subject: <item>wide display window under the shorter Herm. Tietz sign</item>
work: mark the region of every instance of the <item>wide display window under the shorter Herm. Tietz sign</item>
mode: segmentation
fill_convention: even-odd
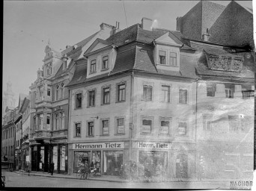
[[[163,171],[167,169],[167,151],[139,151],[138,163],[139,176],[155,176],[158,164]]]

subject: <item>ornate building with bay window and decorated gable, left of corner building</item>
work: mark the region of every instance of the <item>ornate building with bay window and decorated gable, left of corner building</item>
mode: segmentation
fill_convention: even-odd
[[[98,37],[104,40],[115,31],[105,23],[100,31],[62,52],[52,46],[45,48],[43,67],[31,84],[31,170],[67,172],[67,131],[69,99],[66,85],[73,76],[75,60]]]

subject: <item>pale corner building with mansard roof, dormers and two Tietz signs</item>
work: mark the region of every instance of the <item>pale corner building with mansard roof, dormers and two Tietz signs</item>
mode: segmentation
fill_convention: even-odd
[[[138,175],[195,174],[195,59],[178,31],[143,18],[97,39],[77,63],[70,89],[69,168],[88,160],[103,175],[138,163]],[[87,64],[86,64],[87,62]],[[149,167],[151,166],[151,167]]]

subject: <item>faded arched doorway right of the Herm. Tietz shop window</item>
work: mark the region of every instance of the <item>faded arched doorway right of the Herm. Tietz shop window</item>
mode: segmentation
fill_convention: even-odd
[[[177,155],[176,178],[188,178],[188,155],[186,154]]]

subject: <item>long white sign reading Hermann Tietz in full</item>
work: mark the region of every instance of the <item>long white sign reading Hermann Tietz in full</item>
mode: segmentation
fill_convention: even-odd
[[[108,143],[75,143],[73,149],[88,149],[88,148],[124,148],[124,142],[108,142]]]

